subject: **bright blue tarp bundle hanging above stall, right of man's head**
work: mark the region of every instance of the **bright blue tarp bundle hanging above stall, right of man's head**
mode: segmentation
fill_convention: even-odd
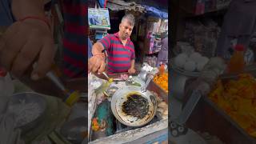
[[[146,9],[146,14],[148,16],[158,17],[158,18],[162,18],[162,19],[168,19],[168,13],[166,13],[162,10],[158,10],[154,6],[144,6],[144,7]]]

